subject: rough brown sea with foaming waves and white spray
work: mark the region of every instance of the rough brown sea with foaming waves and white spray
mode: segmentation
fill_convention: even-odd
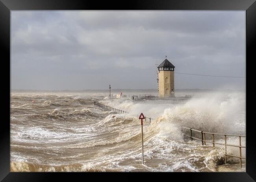
[[[180,126],[245,134],[240,97],[139,102],[83,93],[11,93],[11,171],[217,171],[224,148],[185,141]],[[94,100],[130,114],[103,111]],[[144,165],[140,112],[153,118],[143,125]],[[237,144],[235,138],[228,142]],[[228,162],[236,171],[237,160]]]

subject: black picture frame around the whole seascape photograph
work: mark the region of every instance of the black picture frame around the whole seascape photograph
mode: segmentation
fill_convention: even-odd
[[[10,172],[10,13],[12,10],[243,10],[246,11],[246,172],[234,173],[165,173],[165,177],[174,177],[189,181],[256,181],[256,142],[253,127],[255,116],[253,107],[256,103],[256,86],[254,79],[254,61],[256,51],[256,2],[255,0],[145,0],[102,1],[96,0],[0,0],[0,51],[2,71],[2,123],[0,127],[0,180],[2,181],[49,181],[55,178],[74,180],[78,177],[98,178],[98,173],[17,173]],[[8,79],[9,77],[9,79]],[[10,105],[9,105],[10,106]],[[134,173],[119,173],[127,179],[134,179]],[[131,174],[133,176],[131,176]],[[136,173],[138,174],[138,173]],[[148,177],[160,173],[147,173]],[[163,173],[161,173],[162,175]],[[101,173],[100,176],[115,176],[116,173]],[[110,180],[122,180],[115,177]],[[158,178],[165,180],[164,178]]]

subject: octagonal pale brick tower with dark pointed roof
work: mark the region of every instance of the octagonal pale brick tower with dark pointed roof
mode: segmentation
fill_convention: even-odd
[[[158,92],[160,97],[174,94],[174,68],[172,63],[165,59],[158,66]]]

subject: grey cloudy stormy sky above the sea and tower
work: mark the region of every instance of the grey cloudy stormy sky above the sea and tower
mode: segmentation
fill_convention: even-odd
[[[11,11],[11,89],[245,89],[245,11]]]

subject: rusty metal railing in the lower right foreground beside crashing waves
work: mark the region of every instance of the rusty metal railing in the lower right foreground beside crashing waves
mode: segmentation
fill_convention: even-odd
[[[192,128],[187,128],[187,127],[183,127],[183,126],[182,126],[182,127],[181,127],[181,131],[182,131],[182,132],[183,132],[183,129],[188,129],[188,130],[190,130],[190,135],[187,135],[187,134],[184,133],[185,136],[188,136],[188,137],[190,137],[191,139],[195,139],[195,140],[200,140],[200,141],[202,141],[202,145],[206,145],[206,142],[207,142],[207,143],[212,143],[212,144],[213,144],[212,147],[215,147],[215,144],[217,144],[217,145],[224,145],[224,146],[225,146],[225,164],[226,164],[226,158],[227,158],[227,156],[236,157],[236,158],[239,158],[240,168],[242,167],[242,159],[246,159],[246,158],[242,156],[241,148],[246,148],[246,147],[241,145],[241,137],[246,137],[246,136],[240,135],[240,134],[239,134],[239,135],[236,135],[236,134],[221,134],[221,133],[204,132],[204,131],[199,131],[199,130],[195,130],[195,129],[192,129]],[[196,138],[195,136],[192,136],[192,131],[200,132],[202,138]],[[206,141],[205,134],[211,134],[211,135],[212,135],[212,141]],[[225,143],[218,143],[218,142],[215,142],[215,141],[214,141],[214,136],[215,136],[215,135],[222,135],[222,136],[224,136],[224,141],[225,141]],[[227,136],[238,136],[238,137],[239,137],[239,145],[227,144]],[[239,147],[239,156],[227,154],[227,148],[226,148],[226,146],[230,146],[230,147]]]

